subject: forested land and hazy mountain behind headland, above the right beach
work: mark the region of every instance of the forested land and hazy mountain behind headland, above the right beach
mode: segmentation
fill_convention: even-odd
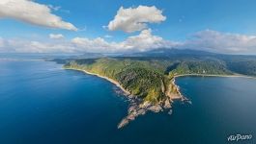
[[[180,74],[231,74],[256,76],[256,56],[223,55],[204,51],[157,49],[144,53],[125,55],[136,59],[171,60],[170,69]],[[171,71],[169,70],[169,71]]]

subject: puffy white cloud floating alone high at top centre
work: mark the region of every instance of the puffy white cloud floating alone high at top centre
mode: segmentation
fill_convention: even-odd
[[[107,28],[110,31],[121,30],[127,33],[147,29],[147,23],[160,23],[166,19],[162,11],[155,6],[139,6],[125,9],[121,7],[115,18],[109,22]]]

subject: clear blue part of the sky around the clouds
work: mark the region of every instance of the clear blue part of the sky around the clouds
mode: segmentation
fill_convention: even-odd
[[[184,42],[193,38],[198,32],[208,30],[211,30],[211,35],[214,33],[214,35],[224,36],[233,34],[256,36],[255,0],[36,0],[35,3],[47,7],[59,7],[58,10],[51,9],[51,13],[62,17],[63,21],[71,23],[79,30],[75,32],[52,29],[23,22],[12,16],[3,16],[0,19],[0,37],[2,39],[23,38],[48,42],[50,41],[49,34],[61,34],[65,36],[66,40],[74,37],[94,39],[112,36],[105,37],[104,40],[122,42],[129,36],[138,36],[141,33],[141,31],[132,33],[109,31],[103,28],[114,19],[122,6],[125,9],[155,6],[166,17],[166,20],[147,23],[147,29],[151,29],[152,35],[159,36],[164,40]],[[5,4],[2,5],[2,8],[5,8]]]

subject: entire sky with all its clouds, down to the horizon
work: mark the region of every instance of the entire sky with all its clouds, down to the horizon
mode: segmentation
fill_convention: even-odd
[[[256,55],[255,0],[1,0],[2,53]]]

